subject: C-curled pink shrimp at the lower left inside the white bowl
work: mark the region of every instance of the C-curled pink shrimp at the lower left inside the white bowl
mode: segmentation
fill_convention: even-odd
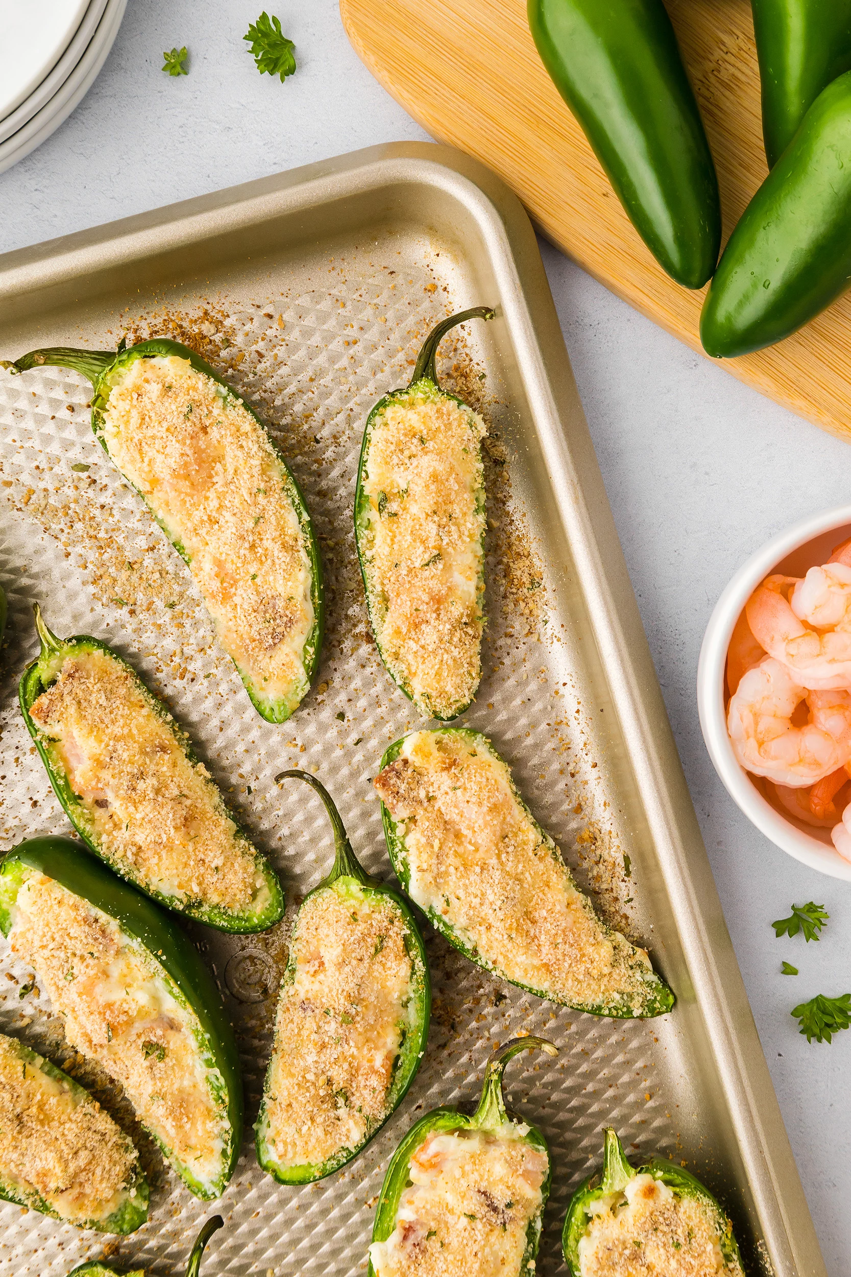
[[[795,727],[801,701],[810,722]],[[851,693],[808,691],[785,664],[767,656],[744,674],[730,699],[727,730],[746,771],[803,789],[851,759]]]

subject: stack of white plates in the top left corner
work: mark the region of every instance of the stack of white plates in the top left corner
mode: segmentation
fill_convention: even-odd
[[[128,0],[0,0],[0,172],[33,151],[94,83]]]

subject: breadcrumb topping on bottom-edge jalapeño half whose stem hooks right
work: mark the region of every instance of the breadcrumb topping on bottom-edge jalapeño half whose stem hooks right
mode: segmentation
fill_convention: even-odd
[[[429,1131],[411,1158],[396,1228],[370,1246],[376,1277],[521,1277],[547,1167],[512,1122],[504,1135]]]

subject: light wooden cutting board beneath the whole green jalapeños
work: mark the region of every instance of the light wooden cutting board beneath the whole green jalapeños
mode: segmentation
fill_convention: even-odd
[[[749,0],[666,0],[718,170],[725,239],[767,174]],[[656,264],[532,43],[526,0],[341,0],[370,72],[433,137],[495,170],[559,248],[702,351],[703,292]],[[850,227],[851,232],[851,227]],[[851,295],[723,366],[851,439]]]

